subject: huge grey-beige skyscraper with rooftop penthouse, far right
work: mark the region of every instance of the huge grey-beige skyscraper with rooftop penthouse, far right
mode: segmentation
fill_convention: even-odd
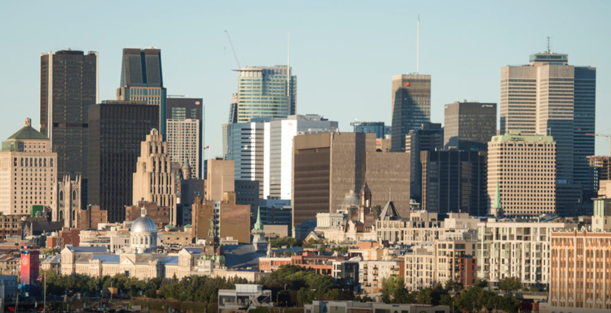
[[[500,132],[552,135],[557,179],[586,189],[586,157],[594,153],[596,68],[574,67],[568,55],[535,53],[528,65],[501,68]]]

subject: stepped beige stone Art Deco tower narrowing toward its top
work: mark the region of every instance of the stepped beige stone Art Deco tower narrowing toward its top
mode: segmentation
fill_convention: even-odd
[[[133,183],[133,201],[156,202],[158,206],[170,208],[170,224],[177,222],[175,176],[172,173],[167,142],[157,129],[152,129],[141,143]]]

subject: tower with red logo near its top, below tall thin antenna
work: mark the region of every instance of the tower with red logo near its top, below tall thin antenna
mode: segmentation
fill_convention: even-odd
[[[431,121],[431,76],[392,76],[392,151],[405,151],[405,135]]]

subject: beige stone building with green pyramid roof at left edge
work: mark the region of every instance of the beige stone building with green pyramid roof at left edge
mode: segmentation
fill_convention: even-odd
[[[51,210],[56,204],[57,153],[51,152],[51,141],[26,118],[25,126],[2,142],[0,212],[30,214],[33,206]]]

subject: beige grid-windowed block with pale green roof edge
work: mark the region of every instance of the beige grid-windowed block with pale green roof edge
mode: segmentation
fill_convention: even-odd
[[[551,136],[506,134],[488,143],[488,199],[505,215],[556,212],[556,143]]]

